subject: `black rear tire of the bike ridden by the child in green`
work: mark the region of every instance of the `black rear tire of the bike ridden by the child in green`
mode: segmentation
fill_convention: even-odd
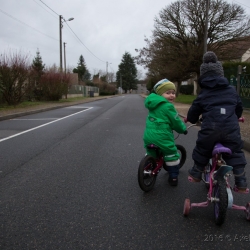
[[[149,181],[148,184],[145,183],[145,180],[147,178],[145,178],[144,168],[145,168],[145,165],[148,165],[148,164],[152,164],[151,170],[153,170],[156,167],[156,161],[154,157],[150,155],[146,155],[145,157],[143,157],[138,168],[138,183],[139,183],[140,188],[145,192],[149,192],[150,190],[152,190],[156,181],[156,175],[154,175],[154,176],[150,176],[151,180]]]

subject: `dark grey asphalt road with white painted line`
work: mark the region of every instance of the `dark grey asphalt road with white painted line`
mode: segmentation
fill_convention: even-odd
[[[182,215],[185,198],[206,200],[204,184],[187,180],[198,128],[176,141],[188,154],[179,185],[162,170],[151,192],[139,188],[143,101],[119,96],[0,122],[1,250],[249,248],[243,211],[228,210],[221,227],[211,204]],[[246,205],[250,195],[234,199]]]

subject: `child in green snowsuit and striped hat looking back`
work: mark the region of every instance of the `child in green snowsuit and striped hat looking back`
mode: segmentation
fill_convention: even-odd
[[[183,134],[186,125],[181,121],[172,102],[175,100],[175,85],[167,79],[159,81],[154,86],[155,93],[150,94],[145,100],[145,107],[149,114],[144,131],[144,147],[148,155],[154,151],[147,149],[148,144],[157,145],[164,154],[164,161],[168,167],[170,185],[177,186],[180,155],[175,146],[173,130]]]

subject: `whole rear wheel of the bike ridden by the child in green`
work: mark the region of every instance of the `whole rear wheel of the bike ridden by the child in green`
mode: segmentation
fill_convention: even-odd
[[[140,188],[148,192],[150,191],[156,181],[156,175],[152,175],[152,171],[156,167],[156,161],[154,157],[150,155],[146,155],[140,162],[139,168],[138,168],[138,183]]]

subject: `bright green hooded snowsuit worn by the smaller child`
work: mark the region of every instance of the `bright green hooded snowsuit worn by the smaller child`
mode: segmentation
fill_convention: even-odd
[[[157,145],[164,154],[164,161],[179,159],[175,146],[173,130],[177,133],[186,131],[174,105],[163,96],[150,94],[145,100],[145,107],[149,110],[144,131],[144,147],[148,144]],[[155,157],[154,150],[147,149],[147,154]]]

